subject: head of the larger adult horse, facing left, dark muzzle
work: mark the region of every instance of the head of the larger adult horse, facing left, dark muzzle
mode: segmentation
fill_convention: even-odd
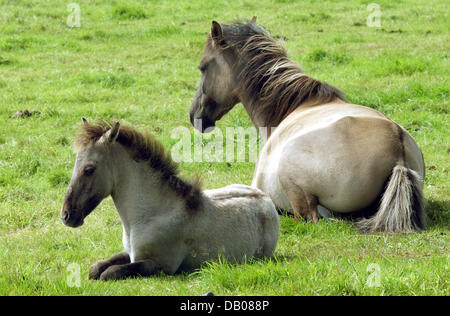
[[[212,22],[199,65],[202,77],[189,115],[191,123],[201,132],[211,131],[215,122],[240,101],[233,74],[236,51],[227,43],[224,31],[228,30],[216,21]]]

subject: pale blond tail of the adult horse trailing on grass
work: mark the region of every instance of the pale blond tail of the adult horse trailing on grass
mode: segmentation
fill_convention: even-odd
[[[409,233],[424,229],[422,189],[420,175],[398,164],[392,170],[378,212],[360,220],[357,226],[365,232]]]

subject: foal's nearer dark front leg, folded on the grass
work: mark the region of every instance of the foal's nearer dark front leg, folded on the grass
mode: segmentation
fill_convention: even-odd
[[[141,260],[133,263],[110,266],[100,276],[100,280],[122,280],[138,276],[149,276],[161,271],[161,267],[153,260]]]

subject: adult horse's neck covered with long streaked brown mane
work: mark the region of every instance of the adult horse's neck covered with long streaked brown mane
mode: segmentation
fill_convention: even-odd
[[[222,24],[222,29],[223,48],[233,47],[240,56],[235,65],[239,92],[257,104],[254,111],[266,117],[266,126],[278,126],[306,101],[315,105],[345,100],[337,88],[305,75],[284,47],[256,23]]]

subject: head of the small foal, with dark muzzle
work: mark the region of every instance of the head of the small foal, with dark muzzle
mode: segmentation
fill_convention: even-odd
[[[85,119],[83,121],[87,128],[92,126]],[[117,139],[119,129],[120,124],[116,123],[100,138],[78,149],[72,179],[61,209],[61,219],[65,225],[83,225],[84,218],[112,193],[113,167],[109,148]]]

